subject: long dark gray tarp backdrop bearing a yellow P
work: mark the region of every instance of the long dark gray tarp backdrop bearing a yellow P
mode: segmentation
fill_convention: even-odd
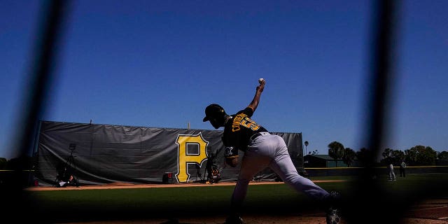
[[[81,185],[162,183],[172,173],[174,183],[207,180],[207,162],[221,181],[236,181],[239,166],[225,165],[220,130],[190,130],[123,125],[41,121],[36,141],[35,176],[52,185],[62,167],[73,167]],[[272,132],[283,137],[297,169],[303,167],[302,134]],[[76,144],[71,150],[70,144]],[[73,157],[73,162],[67,162]],[[239,155],[244,155],[239,151]],[[255,179],[273,181],[265,169]]]

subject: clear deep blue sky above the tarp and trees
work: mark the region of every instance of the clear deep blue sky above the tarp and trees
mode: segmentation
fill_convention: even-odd
[[[448,151],[448,1],[400,1],[386,148]],[[41,1],[0,1],[0,158],[15,128]],[[253,116],[307,151],[365,147],[372,1],[73,1],[41,120],[213,130],[265,91]]]

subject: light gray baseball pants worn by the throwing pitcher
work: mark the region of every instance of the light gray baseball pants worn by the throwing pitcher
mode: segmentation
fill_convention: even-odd
[[[269,132],[262,132],[261,136],[251,141],[244,152],[237,185],[232,194],[232,209],[239,210],[246,197],[248,183],[255,174],[266,167],[271,168],[285,183],[298,192],[305,193],[316,200],[324,200],[329,195],[326,190],[297,173],[283,138]]]

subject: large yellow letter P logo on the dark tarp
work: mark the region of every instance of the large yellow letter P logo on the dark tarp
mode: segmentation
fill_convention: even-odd
[[[178,165],[176,179],[180,182],[188,182],[190,174],[188,174],[188,164],[201,165],[207,160],[208,141],[202,138],[201,132],[197,135],[179,134],[176,139],[178,149]]]

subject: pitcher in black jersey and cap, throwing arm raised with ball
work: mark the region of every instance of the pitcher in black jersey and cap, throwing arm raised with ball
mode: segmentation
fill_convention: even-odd
[[[237,185],[232,194],[231,214],[226,219],[226,223],[244,223],[240,214],[248,183],[255,174],[266,167],[272,169],[295,190],[325,203],[328,207],[327,223],[338,223],[337,211],[330,208],[330,201],[334,195],[300,176],[290,159],[283,138],[269,133],[265,127],[251,119],[260,102],[266,81],[260,78],[259,83],[252,102],[245,109],[231,116],[225,113],[223,107],[218,104],[210,104],[205,109],[204,122],[209,121],[215,129],[224,127],[222,140],[225,146],[225,162],[236,167],[239,162],[238,151],[244,151]]]

